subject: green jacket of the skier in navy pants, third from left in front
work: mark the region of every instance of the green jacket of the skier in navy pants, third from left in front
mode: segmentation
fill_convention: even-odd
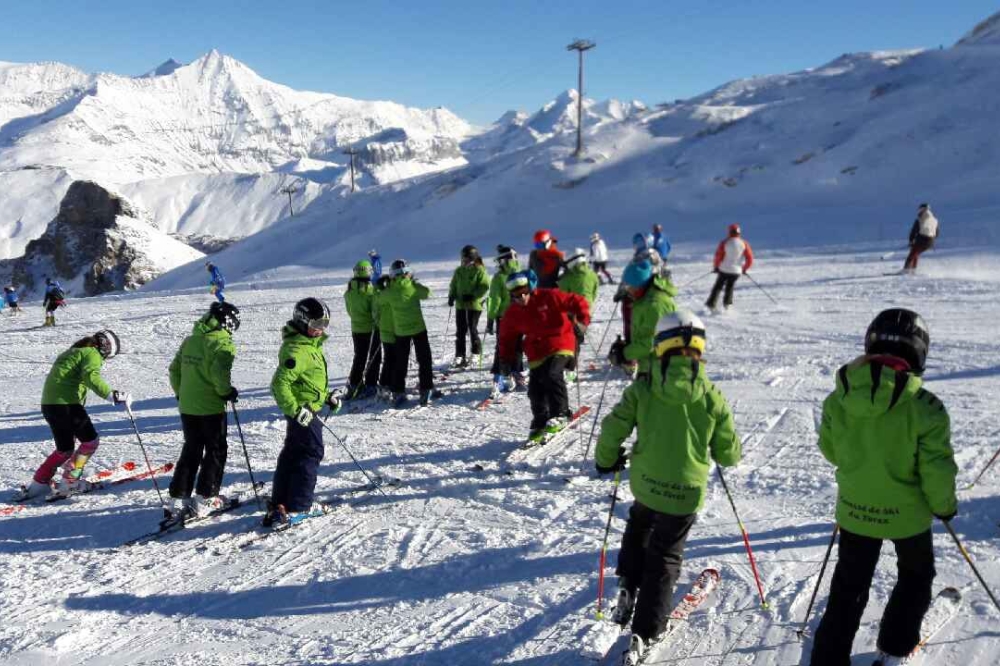
[[[278,369],[271,379],[271,395],[285,416],[295,418],[302,407],[318,412],[330,395],[323,355],[323,343],[328,337],[323,334],[310,338],[291,325],[281,329],[281,350]]]

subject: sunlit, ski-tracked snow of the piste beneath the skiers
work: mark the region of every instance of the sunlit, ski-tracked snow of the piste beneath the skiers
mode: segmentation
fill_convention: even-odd
[[[825,257],[760,258],[754,276],[778,299],[775,306],[748,281],[737,287],[734,312],[705,316],[709,375],[733,405],[744,460],[726,470],[750,532],[770,610],[762,610],[739,529],[713,478],[705,508],[688,542],[677,594],[697,573],[718,567],[722,585],[703,609],[659,646],[650,664],[799,665],[811,643],[795,630],[808,605],[833,529],[833,470],[816,447],[815,420],[837,368],[861,351],[865,326],[880,309],[912,307],[931,327],[928,387],[948,406],[953,444],[967,485],[992,456],[1000,434],[1000,346],[993,328],[1000,305],[992,284],[968,279],[883,277],[877,252],[854,261]],[[935,264],[935,261],[937,262]],[[947,273],[961,256],[925,263]],[[446,275],[444,264],[418,267]],[[700,264],[672,265],[678,284]],[[420,270],[418,270],[419,274]],[[878,276],[873,278],[873,276]],[[270,481],[284,422],[268,385],[292,304],[306,295],[329,301],[337,314],[327,343],[333,385],[350,363],[343,316],[343,271],[312,274],[300,290],[283,284],[234,284],[243,310],[236,334],[234,383],[255,477]],[[442,279],[428,280],[440,296]],[[680,303],[701,311],[703,289],[683,289]],[[484,369],[441,382],[446,395],[428,409],[384,411],[368,404],[329,417],[372,473],[403,484],[379,494],[344,494],[331,515],[288,534],[239,548],[259,521],[250,501],[217,520],[159,541],[122,548],[155,527],[156,493],[140,481],[0,517],[0,663],[4,664],[580,664],[588,634],[614,633],[593,620],[600,539],[610,481],[582,460],[597,410],[602,357],[619,331],[612,288],[601,291],[591,339],[584,346],[583,404],[591,407],[576,431],[549,447],[508,454],[527,435],[527,396],[511,393],[485,410],[492,336]],[[167,364],[183,335],[209,305],[204,293],[135,293],[73,300],[55,329],[37,328],[35,304],[4,317],[6,391],[0,399],[0,481],[14,488],[30,478],[51,448],[38,410],[41,385],[55,356],[100,327],[122,338],[122,354],[105,366],[112,386],[137,397],[137,425],[154,464],[175,461],[181,445]],[[425,305],[438,368],[451,359],[443,337],[447,309]],[[35,318],[38,318],[37,320]],[[596,352],[596,371],[586,369]],[[410,375],[411,381],[415,373]],[[613,373],[600,417],[626,382]],[[576,389],[570,387],[576,407]],[[415,404],[415,400],[412,401]],[[131,426],[119,410],[90,397],[101,434],[91,471],[125,460],[142,462]],[[249,477],[239,436],[230,428],[227,486]],[[336,501],[365,479],[340,444],[326,435],[318,496]],[[591,446],[591,459],[593,446]],[[482,466],[476,471],[474,466]],[[159,480],[166,492],[167,478]],[[986,579],[1000,587],[1000,466],[960,495],[954,525]],[[266,491],[265,491],[266,492]],[[0,493],[0,503],[9,493]],[[613,603],[613,566],[631,495],[622,484],[606,570],[606,604]],[[966,611],[928,646],[929,663],[1000,661],[997,613],[960,554],[935,528],[935,589],[963,589]],[[855,643],[872,656],[878,619],[895,577],[894,558],[880,562]],[[817,611],[825,606],[832,566]],[[815,629],[818,612],[810,623]]]

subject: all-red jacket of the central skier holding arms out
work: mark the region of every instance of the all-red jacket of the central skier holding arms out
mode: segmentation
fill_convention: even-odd
[[[572,354],[576,349],[573,317],[584,326],[590,325],[587,299],[558,289],[536,289],[527,305],[511,301],[500,327],[500,360],[513,364],[518,338],[524,338],[524,353],[528,363],[541,363],[559,352]]]

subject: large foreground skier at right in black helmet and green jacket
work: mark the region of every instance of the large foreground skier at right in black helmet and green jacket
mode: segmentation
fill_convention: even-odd
[[[879,313],[865,355],[838,371],[823,403],[819,448],[837,468],[840,546],[812,666],[851,663],[884,540],[893,542],[899,577],[879,628],[881,663],[901,663],[920,642],[935,574],[931,522],[958,512],[948,412],[920,379],[929,347],[920,315]]]

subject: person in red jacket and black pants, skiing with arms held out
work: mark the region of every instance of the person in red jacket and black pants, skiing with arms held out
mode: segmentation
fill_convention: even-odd
[[[590,325],[587,300],[558,289],[534,288],[530,271],[507,279],[510,307],[500,329],[500,374],[513,368],[517,343],[523,339],[531,368],[528,399],[531,402],[529,440],[541,442],[547,434],[561,430],[572,415],[563,374],[573,358],[574,327],[586,331]]]

